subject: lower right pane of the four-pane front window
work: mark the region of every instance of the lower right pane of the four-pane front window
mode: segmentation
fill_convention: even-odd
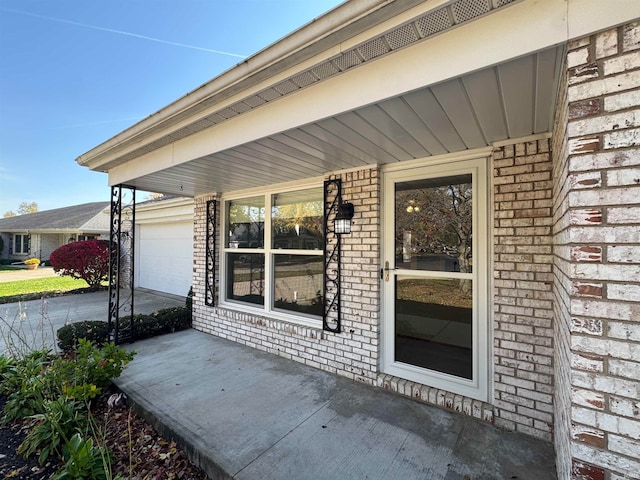
[[[323,257],[274,255],[274,308],[322,316]]]

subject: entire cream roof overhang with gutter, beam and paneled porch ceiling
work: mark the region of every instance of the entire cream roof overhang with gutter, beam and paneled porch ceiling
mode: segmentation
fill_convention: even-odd
[[[347,2],[78,158],[196,196],[548,134],[566,42],[618,0]]]

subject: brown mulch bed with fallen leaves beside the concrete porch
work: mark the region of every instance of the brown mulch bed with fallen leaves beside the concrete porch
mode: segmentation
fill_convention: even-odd
[[[100,428],[104,428],[114,476],[120,474],[130,480],[207,480],[205,473],[191,464],[175,442],[159,436],[125,402],[109,408],[106,399],[103,396],[96,403],[93,415]],[[0,396],[0,408],[4,408],[5,402]],[[35,455],[24,459],[16,453],[27,434],[25,425],[0,425],[0,474],[3,478],[48,479],[60,467],[59,463],[40,466]]]

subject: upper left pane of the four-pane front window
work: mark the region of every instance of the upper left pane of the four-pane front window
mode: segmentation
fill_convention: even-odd
[[[227,202],[227,247],[264,248],[264,197]]]

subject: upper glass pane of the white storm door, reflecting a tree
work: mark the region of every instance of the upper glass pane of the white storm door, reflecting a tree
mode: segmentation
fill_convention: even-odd
[[[396,268],[472,272],[471,175],[396,183]]]

